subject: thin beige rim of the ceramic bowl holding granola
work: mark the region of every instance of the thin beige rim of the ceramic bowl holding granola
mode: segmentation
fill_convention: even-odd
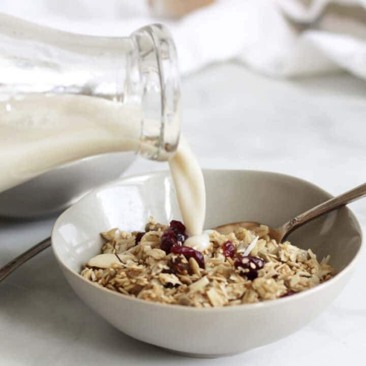
[[[247,173],[264,173],[264,174],[269,174],[272,176],[277,176],[277,177],[288,177],[294,180],[297,180],[298,182],[301,182],[302,184],[306,184],[312,188],[317,189],[318,191],[320,191],[321,193],[324,193],[326,196],[328,196],[329,198],[332,198],[333,196],[328,193],[327,191],[323,190],[322,188],[318,187],[317,185],[315,185],[314,183],[306,180],[306,179],[302,179],[302,178],[298,178],[294,175],[290,175],[290,174],[284,174],[284,173],[279,173],[279,172],[271,172],[271,171],[265,171],[265,170],[249,170],[249,169],[202,169],[203,172],[205,171],[210,171],[210,172],[247,172]],[[95,195],[97,192],[100,192],[106,188],[109,187],[114,187],[120,184],[123,184],[125,181],[129,180],[129,179],[133,179],[133,178],[137,178],[137,177],[141,177],[144,175],[149,175],[149,176],[158,176],[158,175],[166,175],[169,174],[169,170],[158,170],[158,171],[152,171],[152,172],[145,172],[145,173],[138,173],[138,174],[133,174],[133,175],[129,175],[129,176],[125,176],[125,177],[120,177],[116,180],[113,180],[111,182],[108,182],[102,186],[99,186],[95,189],[93,189],[92,191],[90,191],[89,193],[87,193],[85,196],[83,196],[79,201],[77,201],[76,203],[74,203],[72,206],[70,206],[68,209],[66,209],[64,212],[62,212],[62,214],[60,214],[57,218],[57,220],[55,221],[53,227],[52,227],[52,232],[51,232],[51,247],[52,247],[52,251],[53,254],[57,260],[57,263],[60,267],[62,267],[62,269],[64,269],[64,271],[66,270],[66,272],[70,273],[71,276],[75,277],[76,280],[82,280],[85,283],[85,286],[90,286],[89,288],[92,289],[99,289],[101,291],[106,291],[108,294],[113,295],[113,296],[117,296],[117,298],[121,299],[121,301],[123,300],[130,300],[130,301],[135,301],[136,303],[140,303],[141,305],[145,304],[146,306],[150,306],[150,307],[154,307],[157,309],[162,309],[162,310],[166,310],[168,309],[176,309],[176,310],[181,310],[181,311],[193,311],[193,312],[209,312],[209,313],[216,313],[216,312],[231,312],[231,311],[245,311],[245,310],[255,310],[255,309],[263,309],[263,308],[267,308],[267,307],[271,307],[273,305],[280,305],[281,303],[285,303],[285,302],[289,302],[289,301],[296,301],[297,299],[312,295],[318,291],[321,291],[322,289],[324,289],[325,287],[329,287],[332,286],[333,284],[337,283],[338,281],[341,280],[341,278],[343,278],[348,272],[350,272],[354,266],[356,265],[356,263],[358,262],[359,258],[360,258],[360,254],[361,254],[361,250],[364,246],[364,237],[363,237],[363,231],[362,231],[362,227],[356,217],[356,215],[354,214],[354,212],[348,207],[345,206],[345,208],[350,212],[350,214],[353,216],[353,219],[355,220],[356,224],[357,224],[357,229],[359,231],[360,234],[360,239],[361,239],[361,243],[360,243],[360,247],[357,251],[357,253],[355,254],[354,258],[351,260],[351,262],[345,267],[343,268],[339,273],[337,273],[334,277],[332,277],[330,280],[319,284],[313,288],[310,288],[308,290],[304,290],[301,292],[298,292],[295,294],[295,296],[286,296],[286,297],[282,297],[282,298],[277,298],[277,299],[273,299],[273,300],[267,300],[267,301],[260,301],[260,302],[256,302],[256,303],[247,303],[247,304],[238,304],[235,306],[229,306],[229,307],[215,307],[215,308],[195,308],[195,307],[187,307],[184,305],[179,305],[179,304],[166,304],[166,303],[160,303],[160,302],[154,302],[154,301],[147,301],[147,300],[143,300],[143,299],[139,299],[136,297],[130,297],[127,295],[124,295],[122,293],[119,292],[115,292],[115,291],[111,291],[105,287],[100,287],[98,285],[96,285],[93,282],[88,281],[87,279],[85,279],[84,277],[82,277],[80,275],[80,273],[75,272],[74,270],[72,270],[69,266],[67,266],[62,259],[59,258],[57,251],[56,251],[56,246],[54,244],[55,240],[54,240],[54,233],[56,230],[56,227],[58,225],[58,222],[65,216],[67,215],[68,211],[73,208],[75,205],[78,205],[79,203],[83,202],[84,200],[88,200],[89,196]]]

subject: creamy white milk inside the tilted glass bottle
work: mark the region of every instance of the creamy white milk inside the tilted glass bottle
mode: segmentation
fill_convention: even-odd
[[[140,121],[138,108],[85,96],[1,102],[0,192],[83,157],[137,150]]]

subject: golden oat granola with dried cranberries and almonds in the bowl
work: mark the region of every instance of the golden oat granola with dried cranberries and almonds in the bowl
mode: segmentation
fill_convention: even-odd
[[[98,286],[148,301],[197,308],[255,303],[307,290],[329,280],[329,256],[318,262],[309,249],[276,242],[268,227],[208,231],[202,253],[186,247],[183,224],[170,227],[150,218],[145,232],[101,233],[100,255],[81,276]]]

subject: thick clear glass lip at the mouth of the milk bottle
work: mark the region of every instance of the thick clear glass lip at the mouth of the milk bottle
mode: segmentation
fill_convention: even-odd
[[[179,142],[179,72],[174,41],[163,24],[151,24],[131,35],[137,52],[142,108],[139,154],[168,160]]]

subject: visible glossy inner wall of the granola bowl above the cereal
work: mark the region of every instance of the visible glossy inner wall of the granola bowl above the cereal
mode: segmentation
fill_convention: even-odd
[[[306,209],[325,201],[328,193],[288,175],[244,170],[205,170],[206,228],[235,221],[258,221],[278,227]],[[120,179],[77,202],[57,220],[52,242],[56,256],[79,272],[98,254],[99,233],[113,227],[142,230],[150,215],[162,223],[180,219],[169,172]],[[330,254],[336,272],[345,268],[361,246],[361,229],[352,212],[342,208],[319,218],[289,236],[321,260]]]

